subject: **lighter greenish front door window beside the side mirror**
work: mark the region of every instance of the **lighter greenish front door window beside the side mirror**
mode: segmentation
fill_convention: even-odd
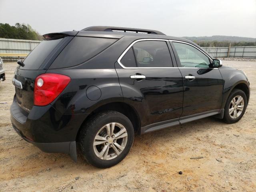
[[[173,42],[182,67],[202,67],[208,68],[209,58],[198,49],[184,43]]]

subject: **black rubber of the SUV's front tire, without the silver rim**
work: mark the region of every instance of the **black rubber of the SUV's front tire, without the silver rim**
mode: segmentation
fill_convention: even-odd
[[[242,96],[242,98],[244,99],[244,109],[242,111],[242,114],[240,114],[240,116],[236,119],[233,119],[230,117],[229,115],[229,106],[230,106],[230,102],[231,100],[235,97],[235,96]],[[225,105],[225,109],[224,109],[224,121],[227,122],[227,123],[235,123],[235,122],[238,122],[243,116],[244,116],[244,113],[246,111],[246,107],[247,107],[247,98],[246,98],[246,94],[240,90],[240,89],[235,89],[231,92],[230,96],[228,97],[228,100],[226,102],[226,105]]]

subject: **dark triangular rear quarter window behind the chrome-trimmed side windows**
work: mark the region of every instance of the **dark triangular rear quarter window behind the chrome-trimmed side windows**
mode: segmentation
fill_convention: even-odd
[[[117,39],[76,36],[62,50],[50,68],[65,68],[86,62],[96,54],[102,52],[102,50],[108,48],[111,44],[116,42],[116,40]]]

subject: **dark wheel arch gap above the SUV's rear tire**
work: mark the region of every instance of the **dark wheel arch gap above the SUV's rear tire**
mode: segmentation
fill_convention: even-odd
[[[114,111],[124,114],[132,122],[132,125],[134,127],[134,132],[135,133],[140,132],[141,121],[140,121],[140,116],[138,115],[138,112],[132,106],[130,106],[129,104],[127,104],[125,102],[110,102],[110,103],[103,104],[101,106],[97,106],[97,107],[93,108],[93,110],[91,110],[90,114],[84,119],[83,123],[81,124],[80,128],[78,129],[78,132],[76,134],[76,141],[78,140],[78,136],[79,136],[80,131],[81,131],[82,127],[84,126],[84,124],[90,118],[92,118],[95,114],[97,114],[99,112],[107,111],[107,110],[114,110]]]

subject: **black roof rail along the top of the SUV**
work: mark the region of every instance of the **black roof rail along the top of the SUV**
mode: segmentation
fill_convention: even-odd
[[[156,30],[127,28],[127,27],[111,27],[111,26],[91,26],[91,27],[82,29],[81,31],[136,32],[136,33],[166,35],[160,31],[156,31]]]

